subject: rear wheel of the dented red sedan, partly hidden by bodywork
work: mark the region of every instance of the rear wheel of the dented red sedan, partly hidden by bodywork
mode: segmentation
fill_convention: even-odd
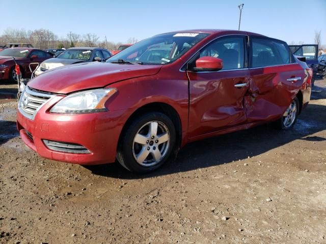
[[[282,115],[282,117],[275,122],[276,128],[279,130],[290,130],[296,122],[297,116],[299,114],[299,109],[300,102],[297,97],[295,97],[291,102],[290,106],[286,109],[285,113]]]

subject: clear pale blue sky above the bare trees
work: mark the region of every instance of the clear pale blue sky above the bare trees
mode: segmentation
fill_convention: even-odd
[[[4,29],[49,29],[59,37],[92,33],[126,42],[182,29],[240,29],[288,43],[313,43],[321,30],[326,44],[326,0],[0,0],[0,35]],[[5,6],[8,6],[6,9]]]

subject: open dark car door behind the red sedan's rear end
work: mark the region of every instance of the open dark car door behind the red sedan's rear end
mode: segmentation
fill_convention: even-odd
[[[306,63],[313,71],[312,86],[315,83],[315,78],[318,69],[318,45],[304,44],[304,45],[289,45],[290,50],[294,55],[306,57]]]

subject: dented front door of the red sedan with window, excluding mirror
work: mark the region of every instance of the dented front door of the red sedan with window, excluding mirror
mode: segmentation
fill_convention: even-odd
[[[250,81],[247,36],[221,37],[200,50],[187,64],[189,79],[189,137],[223,130],[247,122],[243,107]],[[199,57],[223,59],[217,72],[195,72]]]

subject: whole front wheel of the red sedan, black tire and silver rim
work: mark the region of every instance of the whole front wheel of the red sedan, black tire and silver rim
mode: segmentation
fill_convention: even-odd
[[[134,119],[124,130],[119,141],[117,160],[129,171],[150,172],[169,160],[175,141],[175,127],[167,115],[160,112],[146,113]]]

